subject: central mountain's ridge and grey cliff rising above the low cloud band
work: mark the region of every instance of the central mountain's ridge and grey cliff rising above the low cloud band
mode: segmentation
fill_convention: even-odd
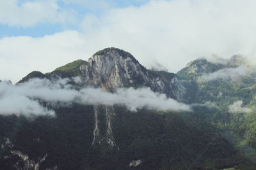
[[[76,60],[65,66],[58,67],[51,73],[33,71],[22,78],[19,83],[31,78],[52,78],[60,76],[67,78],[79,76],[84,86],[100,87],[113,91],[118,87],[150,87],[155,92],[161,92],[168,97],[178,98],[183,89],[177,76],[165,71],[151,71],[136,60],[131,53],[118,48],[106,48],[93,54],[88,59]]]

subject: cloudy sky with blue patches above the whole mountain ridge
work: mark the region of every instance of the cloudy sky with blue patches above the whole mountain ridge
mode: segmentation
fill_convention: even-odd
[[[0,80],[47,73],[114,46],[176,73],[198,57],[255,63],[254,0],[0,0]]]

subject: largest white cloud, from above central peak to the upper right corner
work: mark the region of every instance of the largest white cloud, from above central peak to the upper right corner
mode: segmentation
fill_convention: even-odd
[[[254,56],[255,4],[231,0],[151,1],[140,8],[112,10],[95,22],[92,17],[85,18],[84,32],[99,46],[124,48],[146,66],[154,66],[156,59],[175,72],[202,55]]]

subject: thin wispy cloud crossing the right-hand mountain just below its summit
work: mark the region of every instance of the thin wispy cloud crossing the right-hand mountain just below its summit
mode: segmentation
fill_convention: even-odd
[[[217,79],[223,80],[239,80],[242,76],[250,75],[250,69],[246,66],[239,66],[236,68],[225,68],[218,70],[214,73],[204,74],[202,75],[199,80],[200,81],[212,81]]]

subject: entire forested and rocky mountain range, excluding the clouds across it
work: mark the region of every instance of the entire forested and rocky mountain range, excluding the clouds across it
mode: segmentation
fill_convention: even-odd
[[[240,99],[249,103],[243,102],[243,106],[253,104],[253,76],[236,81],[201,80],[204,75],[240,68],[244,62],[237,56],[225,60],[225,64],[197,59],[174,74],[146,69],[131,53],[106,48],[88,61],[76,60],[51,73],[33,71],[17,86],[33,78],[55,81],[78,77],[81,81],[68,84],[73,89],[93,87],[115,93],[120,88],[148,87],[190,104],[193,111],[147,107],[131,111],[122,104],[51,104],[35,99],[54,110],[56,117],[0,115],[0,167],[253,169],[255,162],[250,151],[255,150],[255,119],[253,115],[248,120],[247,115],[228,113],[230,104]]]

